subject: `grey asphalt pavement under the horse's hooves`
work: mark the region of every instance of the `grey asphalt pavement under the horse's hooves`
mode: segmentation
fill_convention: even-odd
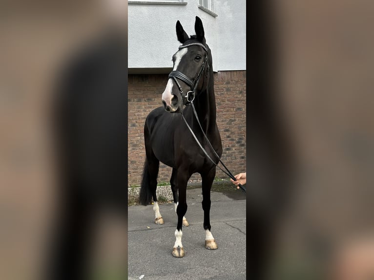
[[[211,192],[210,224],[218,249],[205,248],[201,187],[187,189],[189,226],[183,227],[183,258],[171,254],[177,225],[174,203],[160,205],[165,223],[154,222],[152,205],[128,207],[129,280],[245,280],[246,197]]]

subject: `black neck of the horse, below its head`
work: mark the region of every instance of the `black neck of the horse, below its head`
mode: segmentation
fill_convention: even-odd
[[[209,80],[207,89],[198,94],[197,102],[194,105],[204,132],[206,134],[214,132],[216,125],[216,101],[213,79]]]

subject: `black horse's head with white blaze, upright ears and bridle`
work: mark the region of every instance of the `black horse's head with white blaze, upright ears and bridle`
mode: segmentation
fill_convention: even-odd
[[[208,85],[211,53],[206,44],[203,22],[195,20],[195,33],[188,37],[177,21],[177,38],[182,43],[173,55],[173,71],[169,74],[162,102],[167,112],[180,112]]]

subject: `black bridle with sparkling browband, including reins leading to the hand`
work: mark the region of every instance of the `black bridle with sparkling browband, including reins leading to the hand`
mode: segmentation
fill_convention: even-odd
[[[199,80],[201,78],[201,75],[203,74],[203,71],[204,71],[204,68],[205,68],[205,65],[208,65],[208,49],[205,45],[201,44],[201,43],[190,43],[190,44],[186,44],[186,45],[181,45],[179,46],[179,49],[183,49],[183,48],[187,48],[189,46],[193,46],[193,45],[197,45],[197,46],[201,46],[205,52],[206,52],[206,55],[205,55],[205,58],[203,60],[203,64],[201,65],[200,67],[200,70],[199,72],[197,73],[195,79],[193,80],[190,80],[185,74],[183,74],[182,72],[180,71],[171,71],[170,74],[169,74],[169,77],[168,78],[172,78],[176,84],[178,85],[178,88],[179,88],[179,92],[182,96],[182,100],[183,100],[183,104],[184,105],[189,105],[191,104],[191,107],[192,107],[192,111],[195,115],[195,118],[197,120],[197,123],[199,124],[200,126],[200,129],[205,137],[205,139],[207,140],[207,143],[210,147],[210,149],[213,151],[214,155],[217,157],[217,159],[219,160],[219,162],[221,162],[221,164],[225,167],[226,171],[223,170],[220,166],[218,166],[217,163],[215,163],[214,160],[212,160],[210,158],[210,156],[208,155],[208,152],[204,149],[204,147],[201,145],[201,143],[199,142],[199,140],[197,139],[195,133],[193,132],[192,128],[189,126],[189,124],[187,123],[187,120],[185,119],[185,116],[183,115],[182,111],[180,112],[181,115],[182,115],[182,118],[183,120],[185,121],[189,131],[191,132],[193,138],[195,139],[195,141],[197,142],[197,144],[199,145],[200,149],[203,150],[204,154],[207,156],[207,158],[215,165],[217,166],[219,169],[221,169],[226,175],[228,175],[232,180],[236,180],[236,178],[232,175],[232,173],[229,171],[229,169],[225,166],[225,164],[221,161],[220,157],[218,156],[218,154],[216,153],[216,151],[214,150],[214,148],[212,147],[212,145],[210,144],[210,141],[208,140],[208,137],[207,135],[205,134],[204,130],[203,130],[203,127],[201,126],[200,124],[200,121],[199,121],[199,118],[197,116],[197,113],[196,113],[196,110],[195,110],[195,106],[193,105],[193,100],[195,99],[195,91],[196,91],[196,88],[197,88],[197,85],[199,84]],[[209,65],[208,65],[209,67]],[[209,69],[209,68],[208,68]],[[186,96],[183,96],[183,90],[182,90],[182,87],[181,85],[179,84],[178,80],[182,80],[183,82],[185,82],[189,87],[190,87],[190,91],[187,92]],[[241,184],[239,184],[239,188],[241,189],[241,191],[243,191],[244,193],[246,193],[247,189],[246,187],[242,186]]]

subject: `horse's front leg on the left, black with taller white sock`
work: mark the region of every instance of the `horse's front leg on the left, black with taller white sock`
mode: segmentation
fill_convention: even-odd
[[[181,174],[182,172],[179,172]],[[189,178],[189,177],[188,177]],[[173,247],[172,255],[175,258],[182,258],[185,256],[185,250],[183,249],[182,245],[182,225],[183,225],[183,218],[187,212],[187,200],[186,200],[186,190],[187,190],[187,181],[188,178],[180,178],[178,176],[177,183],[178,183],[178,206],[177,206],[177,215],[178,215],[178,223],[177,229],[175,230],[175,243]]]

